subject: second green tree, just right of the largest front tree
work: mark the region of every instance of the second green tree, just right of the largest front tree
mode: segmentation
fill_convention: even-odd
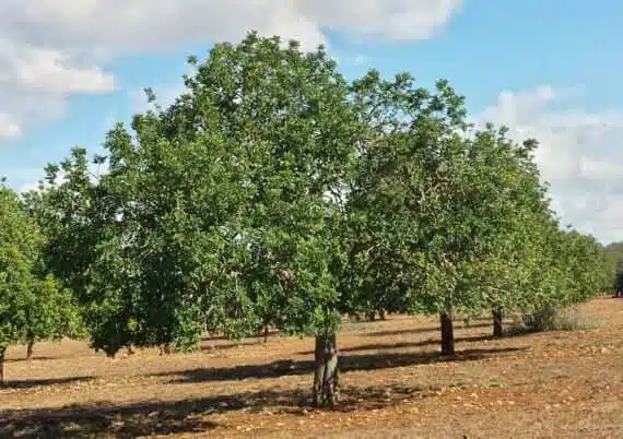
[[[467,123],[463,98],[445,81],[431,93],[409,74],[376,71],[353,84],[371,127],[349,197],[351,276],[345,284],[374,311],[437,313],[451,355],[452,317],[525,304],[522,287],[542,251],[549,202],[533,164],[534,141]]]

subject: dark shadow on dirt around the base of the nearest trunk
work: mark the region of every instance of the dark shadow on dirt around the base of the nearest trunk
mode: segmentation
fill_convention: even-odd
[[[340,405],[328,411],[353,412],[385,408],[404,400],[423,400],[434,388],[401,384],[383,387],[345,387]],[[233,411],[246,413],[281,412],[305,416],[316,411],[309,391],[269,390],[233,395],[214,395],[183,401],[146,401],[125,405],[95,403],[59,408],[4,411],[0,419],[0,437],[21,438],[91,438],[104,435],[134,438],[150,435],[208,434],[226,424],[205,419],[210,415]],[[234,431],[232,430],[233,435]]]

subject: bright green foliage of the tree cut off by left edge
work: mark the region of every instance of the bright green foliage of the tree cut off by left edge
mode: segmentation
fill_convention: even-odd
[[[81,333],[71,292],[46,273],[44,246],[17,195],[0,187],[0,351]]]

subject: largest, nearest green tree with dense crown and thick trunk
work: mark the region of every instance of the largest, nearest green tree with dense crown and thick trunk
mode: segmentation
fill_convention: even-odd
[[[50,176],[50,254],[84,258],[55,266],[95,347],[272,324],[316,335],[315,400],[336,402],[340,195],[361,127],[348,84],[322,48],[254,33],[190,61],[174,105],[110,131],[108,174],[87,181],[77,150],[66,179]]]

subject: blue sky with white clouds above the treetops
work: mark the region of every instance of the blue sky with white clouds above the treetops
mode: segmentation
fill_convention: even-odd
[[[541,142],[565,224],[623,240],[620,0],[2,0],[0,176],[32,188],[72,146],[183,88],[189,55],[251,29],[325,44],[348,79],[367,69],[447,79],[475,122]]]

